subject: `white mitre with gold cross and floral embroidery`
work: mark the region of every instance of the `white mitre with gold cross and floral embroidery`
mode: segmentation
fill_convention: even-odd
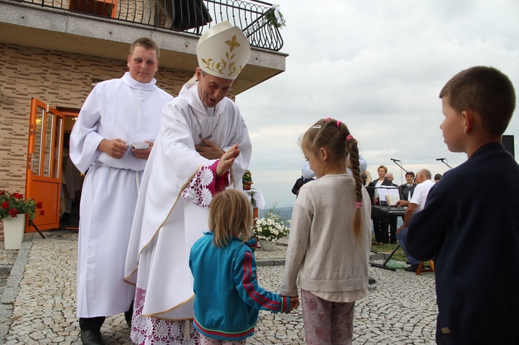
[[[251,57],[251,46],[244,32],[222,21],[203,32],[197,44],[198,65],[202,71],[235,80]]]

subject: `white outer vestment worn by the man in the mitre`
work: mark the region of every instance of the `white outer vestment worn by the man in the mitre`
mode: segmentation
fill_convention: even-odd
[[[240,154],[228,188],[242,189],[242,176],[251,160],[251,140],[238,107],[226,97],[214,111],[206,111],[197,82],[185,84],[179,97],[164,108],[131,230],[125,277],[138,290],[145,290],[143,316],[170,320],[193,317],[189,254],[192,244],[208,230],[208,207],[181,194],[188,185],[203,184],[203,175],[194,176],[201,176],[197,173],[202,167],[217,162],[203,158],[194,147],[209,135],[208,140],[225,151],[238,144]],[[206,190],[201,196],[208,205],[212,195]]]

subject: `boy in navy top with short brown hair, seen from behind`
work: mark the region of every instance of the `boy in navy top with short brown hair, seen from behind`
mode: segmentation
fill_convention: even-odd
[[[506,75],[477,66],[439,97],[444,142],[468,159],[430,189],[406,239],[412,257],[435,259],[436,340],[519,344],[519,166],[501,144],[516,93]]]

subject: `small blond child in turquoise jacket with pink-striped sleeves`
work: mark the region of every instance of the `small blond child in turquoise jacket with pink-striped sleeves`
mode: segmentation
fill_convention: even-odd
[[[194,243],[189,259],[194,327],[202,344],[245,344],[254,334],[260,309],[288,313],[299,304],[298,297],[282,297],[258,286],[256,239],[247,241],[251,225],[251,202],[243,192],[228,189],[212,199],[212,231]]]

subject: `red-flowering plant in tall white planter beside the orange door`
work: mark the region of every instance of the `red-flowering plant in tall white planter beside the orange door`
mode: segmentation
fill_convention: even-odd
[[[44,215],[43,203],[24,198],[23,194],[0,191],[0,219],[3,221],[3,244],[6,249],[20,249],[24,241],[26,215],[30,221]],[[37,212],[39,209],[39,212]]]

